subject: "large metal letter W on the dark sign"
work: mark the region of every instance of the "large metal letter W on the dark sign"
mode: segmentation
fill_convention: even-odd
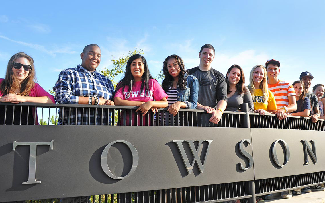
[[[177,144],[178,150],[181,153],[181,156],[182,156],[182,159],[183,159],[183,162],[185,164],[185,167],[186,167],[186,170],[187,170],[188,174],[191,174],[195,162],[198,165],[200,172],[203,173],[204,163],[205,163],[206,158],[208,156],[209,148],[210,148],[210,145],[211,145],[212,141],[213,140],[173,140],[173,142],[175,142]],[[188,145],[189,145],[189,148],[192,151],[192,154],[193,154],[192,164],[189,163],[189,160],[188,160],[188,157],[186,155],[186,152],[185,152],[185,149],[184,149],[184,146],[183,146],[182,142],[187,142]],[[197,149],[194,146],[194,142],[199,142]],[[201,147],[202,142],[208,142],[208,146],[206,147],[206,152],[205,152],[203,163],[201,162],[200,156],[199,156],[199,151],[200,151],[200,147]],[[203,152],[201,152],[201,153],[203,153]]]

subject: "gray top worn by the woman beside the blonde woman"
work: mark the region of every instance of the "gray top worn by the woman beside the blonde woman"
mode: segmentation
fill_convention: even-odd
[[[228,98],[227,108],[225,111],[240,111],[240,104],[247,103],[249,112],[254,112],[254,104],[250,91],[246,86],[245,93],[239,93],[238,90]]]

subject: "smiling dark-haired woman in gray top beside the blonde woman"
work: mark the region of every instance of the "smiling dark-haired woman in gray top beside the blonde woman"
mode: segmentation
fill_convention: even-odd
[[[245,84],[245,76],[239,65],[232,65],[226,75],[227,108],[225,111],[240,111],[240,104],[247,103],[249,112],[254,112],[252,95]]]

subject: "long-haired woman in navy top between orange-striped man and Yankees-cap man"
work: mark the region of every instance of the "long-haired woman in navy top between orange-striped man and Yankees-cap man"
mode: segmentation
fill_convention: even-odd
[[[294,92],[296,93],[297,110],[289,113],[292,116],[308,117],[310,114],[310,100],[306,97],[305,84],[301,80],[292,83]]]

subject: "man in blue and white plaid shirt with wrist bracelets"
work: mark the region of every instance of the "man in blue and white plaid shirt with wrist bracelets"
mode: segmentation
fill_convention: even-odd
[[[85,46],[80,54],[81,65],[77,68],[62,70],[55,83],[55,99],[59,104],[89,104],[89,105],[114,105],[112,98],[114,88],[112,82],[96,71],[100,63],[101,51],[97,44]],[[94,106],[92,106],[94,107]],[[100,110],[100,111],[99,111]],[[96,112],[88,108],[71,108],[69,123],[69,108],[63,112],[64,125],[108,125],[108,111],[101,109]],[[90,119],[90,122],[88,123]],[[59,109],[59,125],[62,123],[62,109]]]

